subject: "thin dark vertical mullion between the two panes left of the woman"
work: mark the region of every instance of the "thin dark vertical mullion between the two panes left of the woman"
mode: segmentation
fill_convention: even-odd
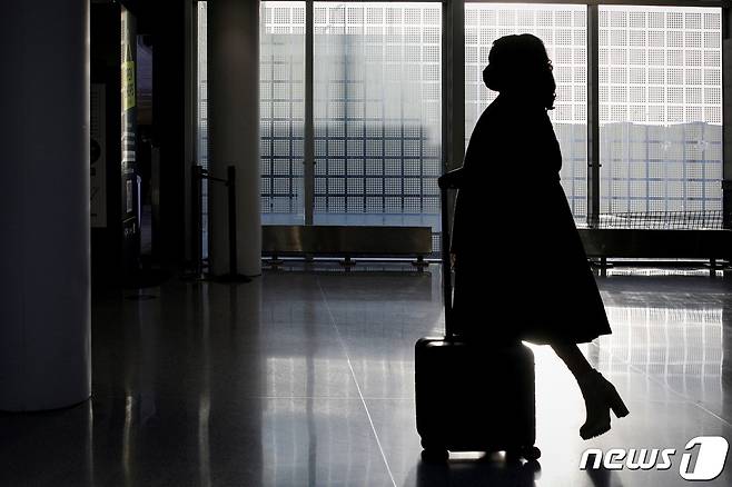
[[[315,206],[315,121],[313,110],[314,78],[314,23],[313,0],[305,2],[305,120],[303,128],[303,189],[305,192],[305,225],[313,225]],[[327,143],[327,137],[326,137]]]

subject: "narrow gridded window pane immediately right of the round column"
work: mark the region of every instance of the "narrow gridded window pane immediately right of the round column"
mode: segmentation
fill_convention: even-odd
[[[303,223],[305,2],[261,2],[259,110],[263,223]]]

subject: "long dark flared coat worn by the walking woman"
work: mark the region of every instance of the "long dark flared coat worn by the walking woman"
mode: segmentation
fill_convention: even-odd
[[[561,168],[544,108],[504,95],[486,108],[459,171],[451,249],[466,336],[576,344],[611,332]]]

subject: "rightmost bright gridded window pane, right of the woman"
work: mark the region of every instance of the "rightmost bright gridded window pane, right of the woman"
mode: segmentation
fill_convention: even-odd
[[[722,209],[720,9],[600,8],[601,210]]]

